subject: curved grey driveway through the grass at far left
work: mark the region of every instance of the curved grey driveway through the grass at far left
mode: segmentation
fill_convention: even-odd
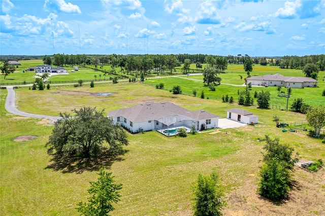
[[[7,95],[7,99],[6,99],[5,108],[9,113],[17,115],[17,116],[24,116],[24,117],[38,118],[38,119],[50,119],[50,120],[54,120],[54,121],[61,119],[61,117],[59,117],[59,116],[36,115],[36,114],[30,114],[30,113],[25,113],[25,112],[19,111],[15,105],[16,92],[15,92],[13,86],[7,86],[7,91],[8,91],[8,95]]]

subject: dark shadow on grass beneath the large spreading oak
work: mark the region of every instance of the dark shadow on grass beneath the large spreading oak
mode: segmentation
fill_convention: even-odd
[[[127,150],[122,150],[119,153],[111,150],[103,150],[96,158],[67,160],[61,160],[57,155],[54,155],[50,160],[52,163],[47,165],[45,169],[62,171],[62,173],[76,172],[77,174],[84,171],[98,171],[103,167],[109,169],[115,161],[124,160],[121,155],[124,155],[126,152]]]

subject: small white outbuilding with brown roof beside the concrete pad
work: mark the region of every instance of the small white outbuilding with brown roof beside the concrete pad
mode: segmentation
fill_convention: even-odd
[[[244,124],[252,124],[252,122],[253,124],[258,123],[258,116],[239,108],[227,110],[227,119],[235,120]]]

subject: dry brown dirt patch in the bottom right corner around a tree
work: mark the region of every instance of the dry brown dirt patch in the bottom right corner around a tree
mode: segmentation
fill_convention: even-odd
[[[271,202],[258,195],[259,176],[228,194],[228,206],[224,215],[325,215],[325,169],[308,172],[296,167],[295,179],[289,198],[280,203]]]

